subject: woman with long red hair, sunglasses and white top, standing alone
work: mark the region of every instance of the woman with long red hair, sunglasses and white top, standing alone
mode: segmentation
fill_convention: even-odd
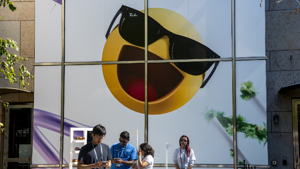
[[[193,149],[190,148],[188,137],[183,135],[179,139],[179,148],[174,150],[173,165],[176,169],[191,169],[196,160]]]

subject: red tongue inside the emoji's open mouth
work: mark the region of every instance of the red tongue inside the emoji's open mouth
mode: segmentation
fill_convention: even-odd
[[[130,82],[127,85],[126,93],[131,97],[145,101],[145,78],[131,75]],[[158,94],[152,84],[148,81],[148,101],[158,100]]]

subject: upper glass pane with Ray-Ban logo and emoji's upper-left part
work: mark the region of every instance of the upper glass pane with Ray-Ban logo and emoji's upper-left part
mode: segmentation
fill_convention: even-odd
[[[119,33],[118,24],[121,14],[112,25],[108,39],[106,39],[106,33],[109,29],[110,23],[122,5],[134,8],[139,12],[144,9],[144,4],[145,1],[143,0],[91,0],[89,4],[82,3],[80,0],[66,1],[65,61],[118,61],[121,60],[122,55],[128,55],[128,52],[136,52],[139,54],[139,51],[144,50],[144,48],[132,45],[131,41],[125,41]],[[133,19],[130,17],[128,12],[124,12],[124,14],[122,13],[122,18],[122,23],[124,24],[126,23],[124,18],[126,21]],[[143,20],[144,17],[142,15],[138,15],[134,19],[136,18],[142,18]],[[145,27],[143,22],[138,22],[137,24]],[[123,36],[141,30],[136,29],[138,26],[137,24],[129,22],[129,24],[123,25],[122,30],[127,28],[127,31],[124,32]],[[131,26],[134,26],[136,30],[128,29],[128,27],[131,28]],[[139,38],[141,38],[142,41],[145,41],[144,35]],[[82,43],[88,43],[89,45],[82,47]],[[137,48],[126,48],[127,46]],[[144,55],[145,54],[143,54],[143,56]],[[144,58],[145,57],[142,57],[141,60],[144,60]],[[131,59],[132,58],[126,57],[122,58],[122,60]]]

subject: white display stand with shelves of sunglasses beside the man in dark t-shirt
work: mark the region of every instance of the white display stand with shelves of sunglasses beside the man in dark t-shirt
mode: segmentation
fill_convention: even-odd
[[[74,131],[83,131],[84,140],[74,140]],[[93,128],[70,128],[70,155],[69,155],[69,169],[72,169],[73,164],[77,166],[77,162],[73,162],[73,153],[79,153],[79,151],[74,151],[73,143],[83,143],[84,146],[88,140],[88,131],[93,131]]]

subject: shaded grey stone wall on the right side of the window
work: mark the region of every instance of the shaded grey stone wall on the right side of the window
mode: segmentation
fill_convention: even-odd
[[[292,133],[292,98],[300,97],[300,89],[279,94],[281,87],[300,82],[300,12],[296,0],[265,1],[266,86],[268,118],[268,160],[270,168],[294,168]],[[275,124],[273,116],[279,115]],[[283,165],[283,159],[287,165]],[[277,166],[272,166],[272,160]]]

